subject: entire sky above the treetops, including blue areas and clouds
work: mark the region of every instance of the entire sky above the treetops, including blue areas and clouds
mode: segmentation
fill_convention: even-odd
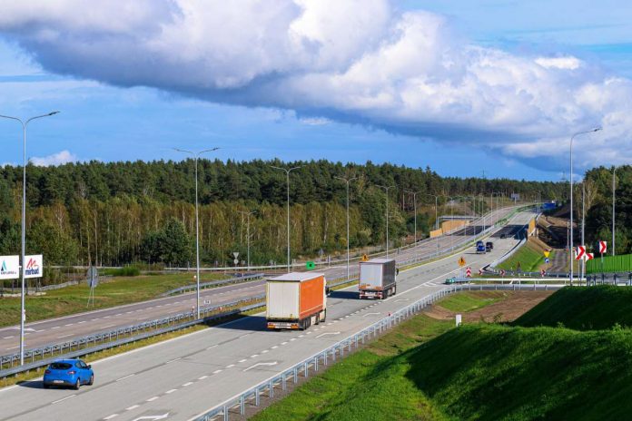
[[[391,162],[558,181],[632,158],[632,5],[0,0],[0,114],[29,159]],[[0,119],[0,164],[22,160]]]

